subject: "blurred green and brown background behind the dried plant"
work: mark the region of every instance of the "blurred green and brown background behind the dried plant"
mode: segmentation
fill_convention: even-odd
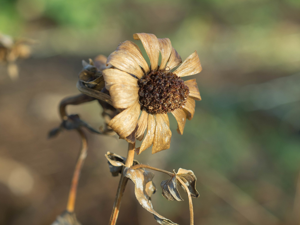
[[[195,224],[299,224],[299,0],[0,0],[0,32],[37,41],[18,61],[18,80],[0,65],[0,224],[46,225],[64,210],[80,142],[73,131],[47,140],[59,101],[79,93],[82,59],[108,56],[137,32],[170,38],[183,60],[197,50],[203,70],[191,77],[202,101],[183,136],[170,116],[170,149],[136,159],[193,170]],[[96,102],[68,110],[95,128],[103,123]],[[88,139],[75,211],[83,225],[107,224],[119,178],[104,154],[126,156],[127,145]],[[154,209],[188,224],[186,194],[164,199],[165,179],[155,174]],[[156,224],[134,198],[128,184],[117,224]]]

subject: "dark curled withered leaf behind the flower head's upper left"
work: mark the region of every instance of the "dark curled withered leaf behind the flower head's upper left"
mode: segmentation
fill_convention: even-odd
[[[83,69],[79,73],[79,80],[88,88],[101,91],[105,86],[102,72],[94,65],[94,62],[89,59],[89,63],[82,60]]]

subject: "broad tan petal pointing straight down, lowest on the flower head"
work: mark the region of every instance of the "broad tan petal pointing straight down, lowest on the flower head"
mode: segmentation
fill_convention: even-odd
[[[170,148],[171,130],[167,114],[156,114],[156,128],[152,146],[152,154]]]

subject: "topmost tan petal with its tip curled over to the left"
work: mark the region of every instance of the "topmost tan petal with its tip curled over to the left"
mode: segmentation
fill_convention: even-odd
[[[156,70],[158,67],[159,44],[157,37],[153,34],[137,33],[133,35],[135,40],[141,40],[142,44],[149,56],[151,69]]]

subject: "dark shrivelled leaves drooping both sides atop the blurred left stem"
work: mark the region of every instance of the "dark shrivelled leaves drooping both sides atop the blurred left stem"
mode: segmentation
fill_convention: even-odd
[[[58,128],[54,128],[49,131],[48,137],[55,137],[63,130],[73,130],[79,127],[85,127],[92,133],[101,134],[99,131],[96,131],[94,128],[92,128],[89,124],[81,120],[77,114],[74,114],[68,116],[68,119],[64,120]]]

